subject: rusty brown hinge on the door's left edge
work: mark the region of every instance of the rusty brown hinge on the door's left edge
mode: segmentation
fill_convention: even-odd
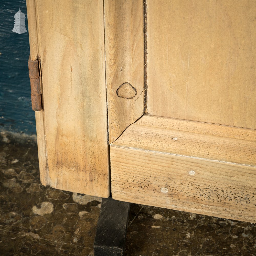
[[[40,73],[39,73],[38,60],[31,60],[30,55],[28,58],[28,72],[31,86],[31,102],[34,111],[42,109],[41,89],[40,89]]]

